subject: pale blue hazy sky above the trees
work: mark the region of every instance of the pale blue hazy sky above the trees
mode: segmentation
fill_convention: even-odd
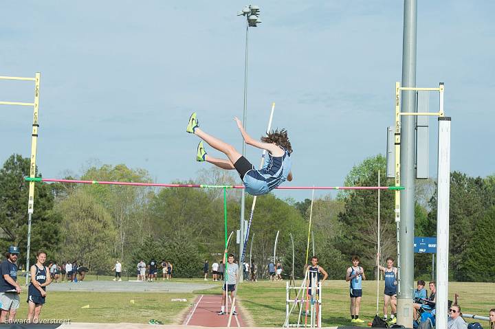
[[[445,82],[452,170],[495,172],[494,1],[418,1],[417,85]],[[197,111],[205,131],[241,148],[242,1],[5,1],[0,75],[41,71],[38,166],[44,177],[125,163],[157,181],[193,179]],[[248,133],[274,126],[294,148],[292,185],[342,185],[385,151],[401,80],[403,1],[274,1],[250,30]],[[32,101],[30,82],[0,81],[0,100]],[[430,108],[437,106],[432,97]],[[432,118],[430,175],[436,175]],[[30,156],[32,108],[0,106],[0,161]],[[218,155],[212,152],[212,155]],[[248,148],[258,163],[261,152]],[[240,181],[239,181],[240,183]],[[286,185],[289,185],[286,183]],[[302,199],[310,192],[277,192]]]

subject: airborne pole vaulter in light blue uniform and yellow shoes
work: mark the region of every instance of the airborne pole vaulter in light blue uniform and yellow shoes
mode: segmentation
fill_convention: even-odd
[[[246,144],[268,151],[263,168],[256,170],[252,163],[243,157],[234,146],[202,131],[199,128],[196,113],[192,113],[186,132],[197,135],[212,148],[223,152],[228,157],[228,160],[225,160],[208,155],[203,147],[203,141],[200,141],[197,147],[196,160],[207,161],[226,170],[237,170],[244,183],[245,192],[254,196],[267,194],[286,180],[292,181],[292,146],[287,131],[284,129],[272,131],[266,137],[261,137],[261,141],[258,141],[245,132],[242,122],[237,117],[234,117],[234,120]]]

